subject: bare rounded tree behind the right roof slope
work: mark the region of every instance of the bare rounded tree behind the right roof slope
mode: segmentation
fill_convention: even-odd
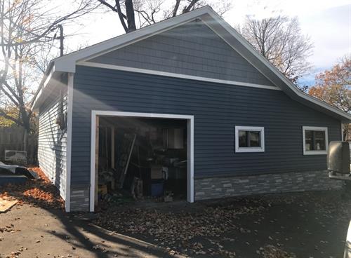
[[[291,81],[296,82],[310,69],[307,57],[312,54],[313,45],[309,37],[301,33],[297,18],[279,15],[255,20],[246,17],[238,30]]]

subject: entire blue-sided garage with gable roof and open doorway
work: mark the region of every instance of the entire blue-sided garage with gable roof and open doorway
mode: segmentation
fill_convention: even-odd
[[[326,147],[350,122],[206,7],[56,58],[32,109],[39,165],[67,212],[93,212],[99,192],[112,204],[118,191],[193,202],[336,188]],[[325,141],[317,152],[306,128]]]

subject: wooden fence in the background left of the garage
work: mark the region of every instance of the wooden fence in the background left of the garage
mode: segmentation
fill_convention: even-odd
[[[25,130],[20,127],[0,127],[0,161],[5,160],[5,150],[27,151],[27,164],[37,165],[38,137],[28,135],[27,150],[23,142]]]

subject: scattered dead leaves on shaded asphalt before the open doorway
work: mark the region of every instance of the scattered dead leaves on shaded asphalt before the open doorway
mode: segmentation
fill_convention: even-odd
[[[208,207],[201,212],[159,212],[133,209],[107,210],[98,215],[95,223],[121,233],[146,234],[168,250],[188,254],[220,255],[234,257],[235,252],[225,250],[217,241],[211,248],[204,248],[197,238],[220,238],[223,233],[240,230],[235,220],[238,215],[253,214],[264,210],[262,205],[237,207],[225,205]],[[242,229],[244,233],[247,230]]]

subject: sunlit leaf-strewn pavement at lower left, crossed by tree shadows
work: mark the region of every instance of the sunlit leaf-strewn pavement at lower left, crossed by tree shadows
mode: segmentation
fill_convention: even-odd
[[[1,186],[0,198],[18,204],[0,213],[0,258],[174,257],[165,248],[91,224],[88,213],[65,213],[58,189],[39,168],[31,169],[39,179]]]

